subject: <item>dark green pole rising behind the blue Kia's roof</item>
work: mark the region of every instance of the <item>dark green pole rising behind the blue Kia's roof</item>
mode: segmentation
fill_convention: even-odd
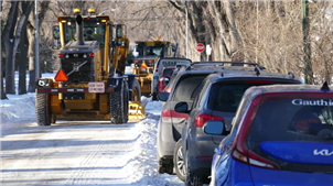
[[[303,31],[303,52],[304,52],[304,83],[313,83],[310,46],[310,21],[309,21],[309,0],[302,0],[302,31]]]

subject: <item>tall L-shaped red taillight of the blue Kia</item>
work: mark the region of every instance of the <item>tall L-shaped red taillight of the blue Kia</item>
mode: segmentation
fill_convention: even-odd
[[[243,123],[239,125],[240,129],[237,132],[237,138],[235,139],[233,143],[233,157],[239,162],[265,167],[265,168],[271,168],[271,169],[281,169],[280,166],[271,161],[268,161],[258,154],[254,153],[247,146],[247,135],[249,132],[249,129],[254,122],[255,114],[257,113],[261,100],[261,96],[258,96],[254,99],[253,105],[248,109]]]

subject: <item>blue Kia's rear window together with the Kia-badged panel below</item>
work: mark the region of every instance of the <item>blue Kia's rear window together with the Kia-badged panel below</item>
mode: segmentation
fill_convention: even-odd
[[[333,100],[324,99],[267,101],[247,136],[250,151],[292,172],[332,173],[332,145]]]

